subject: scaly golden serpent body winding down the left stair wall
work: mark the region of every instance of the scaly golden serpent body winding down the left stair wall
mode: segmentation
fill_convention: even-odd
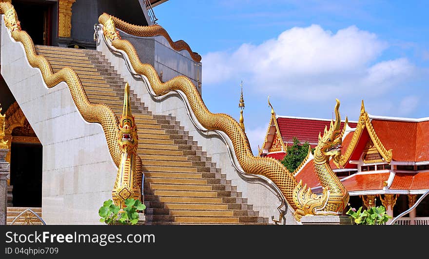
[[[78,75],[71,67],[66,66],[54,73],[49,61],[46,60],[46,58],[42,55],[37,55],[33,40],[30,38],[30,36],[25,31],[17,29],[20,28],[18,26],[20,22],[17,19],[15,9],[11,3],[0,2],[0,14],[7,14],[4,16],[5,25],[9,29],[12,38],[22,43],[28,62],[32,67],[40,69],[46,86],[48,88],[52,88],[62,81],[66,82],[73,101],[75,102],[76,107],[78,108],[78,111],[82,115],[83,119],[88,122],[101,124],[113,161],[119,170],[124,169],[128,165],[127,162],[123,163],[124,153],[126,153],[128,150],[132,150],[129,148],[128,143],[126,143],[127,138],[125,138],[125,141],[122,140],[124,138],[123,133],[128,132],[128,129],[120,127],[120,123],[115,113],[109,106],[103,103],[92,103],[88,100]],[[130,125],[127,123],[122,123],[122,126]],[[133,131],[131,131],[131,133],[134,134]],[[137,136],[132,135],[132,137],[137,140]],[[124,149],[124,147],[126,148]],[[133,184],[130,188],[133,192],[137,188],[141,189],[141,177],[140,179],[136,179],[138,176],[141,176],[141,159],[139,156],[135,156],[134,159],[135,161],[129,163],[132,166],[128,168],[129,170],[133,171],[130,173],[130,177],[133,178]],[[136,187],[136,184],[139,184],[140,186]],[[133,193],[133,195],[135,194]]]

